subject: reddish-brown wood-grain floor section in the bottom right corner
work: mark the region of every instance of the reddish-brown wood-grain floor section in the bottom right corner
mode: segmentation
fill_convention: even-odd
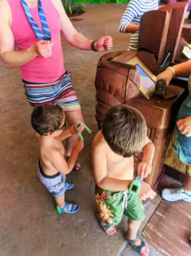
[[[190,256],[190,203],[160,202],[142,234],[144,239],[164,256]]]

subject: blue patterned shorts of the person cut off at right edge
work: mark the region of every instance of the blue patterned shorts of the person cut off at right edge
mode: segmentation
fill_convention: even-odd
[[[186,100],[182,103],[177,114],[177,120],[189,116],[191,116],[191,94],[189,94]],[[184,134],[180,133],[177,126],[175,130],[174,149],[181,162],[191,165],[191,136],[186,137]],[[191,176],[191,173],[189,173],[189,175]]]

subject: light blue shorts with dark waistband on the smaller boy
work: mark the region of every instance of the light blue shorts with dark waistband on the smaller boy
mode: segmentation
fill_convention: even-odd
[[[59,197],[66,192],[66,176],[63,173],[57,172],[53,176],[47,176],[42,167],[40,166],[40,160],[37,164],[37,174],[40,181],[47,188],[53,197]]]

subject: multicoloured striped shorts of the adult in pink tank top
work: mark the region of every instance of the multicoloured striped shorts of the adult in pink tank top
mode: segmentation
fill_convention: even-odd
[[[80,110],[79,101],[73,90],[71,74],[66,71],[53,83],[39,84],[23,80],[25,96],[32,107],[42,104],[59,104],[64,111]]]

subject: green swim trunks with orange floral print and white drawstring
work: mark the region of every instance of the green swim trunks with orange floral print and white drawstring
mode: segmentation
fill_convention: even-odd
[[[95,199],[99,207],[99,218],[107,225],[116,226],[123,214],[132,221],[143,221],[144,206],[139,195],[129,191],[111,191],[95,186]]]

